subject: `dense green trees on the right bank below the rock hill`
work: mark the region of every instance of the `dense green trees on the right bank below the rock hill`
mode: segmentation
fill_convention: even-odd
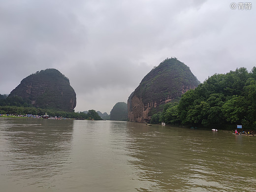
[[[188,126],[256,126],[256,67],[244,67],[226,74],[214,74],[179,103],[167,103],[154,114],[151,123]]]

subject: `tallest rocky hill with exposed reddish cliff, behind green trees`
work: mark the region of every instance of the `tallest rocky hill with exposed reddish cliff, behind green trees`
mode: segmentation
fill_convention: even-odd
[[[150,122],[163,104],[179,101],[182,94],[194,89],[199,81],[190,68],[176,58],[166,59],[154,67],[128,98],[128,119]]]

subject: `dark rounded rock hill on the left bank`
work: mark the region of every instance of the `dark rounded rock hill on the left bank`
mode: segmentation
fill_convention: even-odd
[[[72,112],[76,94],[66,78],[57,69],[45,69],[26,77],[9,96],[21,96],[34,107]]]

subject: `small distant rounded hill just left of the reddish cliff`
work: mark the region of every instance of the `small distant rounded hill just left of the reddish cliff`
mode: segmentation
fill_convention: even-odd
[[[127,121],[128,120],[127,103],[125,102],[116,103],[110,112],[110,120]]]

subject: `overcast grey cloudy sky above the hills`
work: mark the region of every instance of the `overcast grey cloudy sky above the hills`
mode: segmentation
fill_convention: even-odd
[[[56,68],[76,92],[75,111],[109,114],[166,58],[188,65],[200,82],[251,71],[256,3],[246,2],[0,0],[0,94]]]

